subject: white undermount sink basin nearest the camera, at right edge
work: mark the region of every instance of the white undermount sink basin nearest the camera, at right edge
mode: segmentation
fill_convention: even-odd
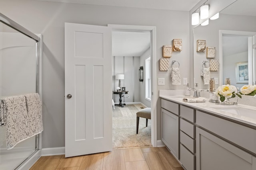
[[[248,109],[240,106],[220,106],[220,107],[211,107],[211,108],[256,119],[256,110],[254,109]]]

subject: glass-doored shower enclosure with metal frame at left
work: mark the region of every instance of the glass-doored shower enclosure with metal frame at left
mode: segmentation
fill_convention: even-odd
[[[42,100],[42,36],[0,13],[0,98],[38,93]],[[0,127],[0,169],[27,169],[40,149],[41,135],[6,148],[6,127]],[[30,163],[32,164],[32,163]]]

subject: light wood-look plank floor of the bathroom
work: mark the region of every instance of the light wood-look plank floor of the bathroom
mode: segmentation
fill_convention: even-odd
[[[30,170],[183,170],[166,147],[115,149],[74,156],[42,156]]]

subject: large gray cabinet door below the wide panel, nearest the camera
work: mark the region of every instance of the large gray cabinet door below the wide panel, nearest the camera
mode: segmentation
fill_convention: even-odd
[[[255,170],[255,158],[196,127],[196,170]]]

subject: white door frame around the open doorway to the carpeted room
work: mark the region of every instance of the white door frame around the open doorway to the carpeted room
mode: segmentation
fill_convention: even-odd
[[[141,25],[116,25],[108,24],[112,31],[150,31],[150,60],[151,62],[151,143],[153,147],[157,147],[157,114],[156,114],[156,27]]]

